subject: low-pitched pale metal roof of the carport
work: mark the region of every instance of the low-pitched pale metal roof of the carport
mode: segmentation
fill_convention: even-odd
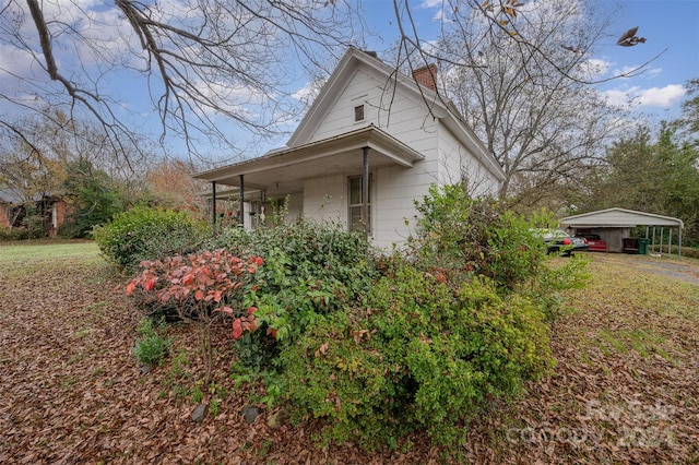
[[[626,228],[636,226],[670,226],[684,228],[684,223],[679,218],[671,216],[654,215],[652,213],[637,212],[625,208],[607,208],[597,212],[583,213],[581,215],[561,218],[561,226],[573,228],[599,227],[599,228]]]

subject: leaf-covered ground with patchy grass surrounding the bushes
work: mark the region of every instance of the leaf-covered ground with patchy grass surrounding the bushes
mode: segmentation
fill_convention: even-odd
[[[197,384],[186,325],[168,329],[170,356],[143,373],[131,355],[141,315],[94,245],[34,247],[0,246],[0,463],[443,461],[419,436],[383,453],[321,449],[317,425],[271,429],[261,404],[247,425],[240,410],[259,393],[227,374],[228,329],[215,335],[214,392]],[[591,260],[589,286],[552,329],[555,372],[464,426],[458,461],[699,462],[699,262]],[[199,392],[217,412],[194,424]]]

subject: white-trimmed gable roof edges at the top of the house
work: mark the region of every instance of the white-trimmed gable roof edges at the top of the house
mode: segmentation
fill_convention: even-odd
[[[426,110],[429,110],[435,118],[441,120],[445,127],[478,158],[488,171],[499,180],[505,180],[505,171],[500,164],[493,154],[488,153],[473,130],[461,121],[461,118],[457,117],[455,110],[450,103],[442,100],[439,94],[431,88],[418,85],[414,79],[396,72],[395,69],[386,64],[375,55],[354,47],[350,47],[340,60],[340,63],[321,88],[296,131],[289,138],[287,142],[289,147],[310,142],[316,129],[332,110],[342,91],[359,69],[386,80],[387,86],[389,83],[394,83],[404,95],[416,102],[422,102]]]

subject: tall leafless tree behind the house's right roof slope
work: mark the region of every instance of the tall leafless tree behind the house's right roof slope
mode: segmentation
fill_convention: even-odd
[[[609,76],[593,57],[601,45],[617,46],[614,12],[579,0],[437,3],[441,37],[425,41],[408,1],[393,0],[398,65],[439,63],[440,98],[503,167],[502,195],[536,202],[574,186],[621,121],[594,85],[641,73],[656,57]]]

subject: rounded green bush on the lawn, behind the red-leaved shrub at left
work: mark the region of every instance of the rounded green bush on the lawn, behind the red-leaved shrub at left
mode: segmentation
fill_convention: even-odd
[[[93,229],[102,253],[128,271],[143,260],[187,254],[199,248],[208,225],[186,212],[137,206],[118,213],[114,220]]]

